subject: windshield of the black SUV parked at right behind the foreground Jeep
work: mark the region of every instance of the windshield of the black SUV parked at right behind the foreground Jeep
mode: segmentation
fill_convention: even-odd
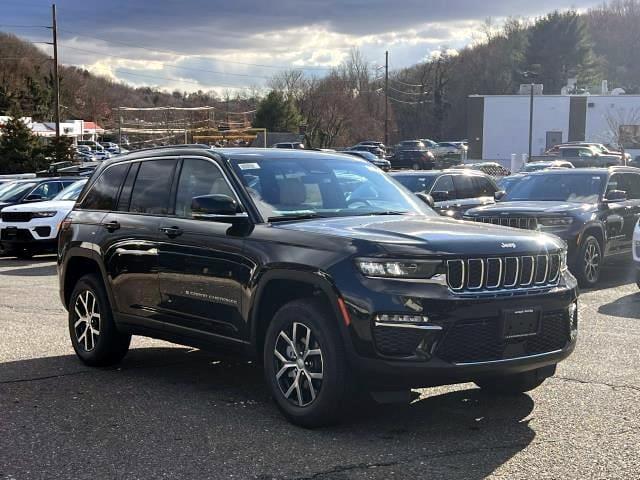
[[[502,200],[592,203],[599,200],[605,182],[605,175],[589,172],[533,174],[520,180]]]

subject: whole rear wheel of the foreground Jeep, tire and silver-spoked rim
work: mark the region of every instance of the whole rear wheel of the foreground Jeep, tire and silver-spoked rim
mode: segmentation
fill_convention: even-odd
[[[102,279],[95,274],[78,280],[71,293],[69,335],[76,355],[92,367],[114,365],[129,350],[131,335],[118,331]]]

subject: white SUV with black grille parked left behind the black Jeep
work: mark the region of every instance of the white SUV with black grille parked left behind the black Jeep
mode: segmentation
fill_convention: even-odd
[[[55,252],[60,223],[73,206],[87,180],[78,180],[52,200],[5,207],[0,212],[0,236],[4,253],[31,258]]]

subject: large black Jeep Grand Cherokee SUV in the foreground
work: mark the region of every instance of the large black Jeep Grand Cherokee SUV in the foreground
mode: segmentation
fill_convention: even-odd
[[[336,420],[359,389],[524,392],[575,346],[559,239],[440,217],[365,160],[140,151],[102,164],[61,229],[83,362],[120,361],[132,334],[232,348],[263,362],[304,426]]]

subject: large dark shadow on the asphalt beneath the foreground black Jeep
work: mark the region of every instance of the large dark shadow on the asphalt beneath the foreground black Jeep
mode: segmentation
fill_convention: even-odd
[[[0,364],[0,472],[480,479],[535,437],[527,395],[441,391],[410,405],[367,405],[336,427],[304,430],[279,414],[262,369],[247,361],[147,348],[108,369],[89,369],[71,355],[8,362]]]

